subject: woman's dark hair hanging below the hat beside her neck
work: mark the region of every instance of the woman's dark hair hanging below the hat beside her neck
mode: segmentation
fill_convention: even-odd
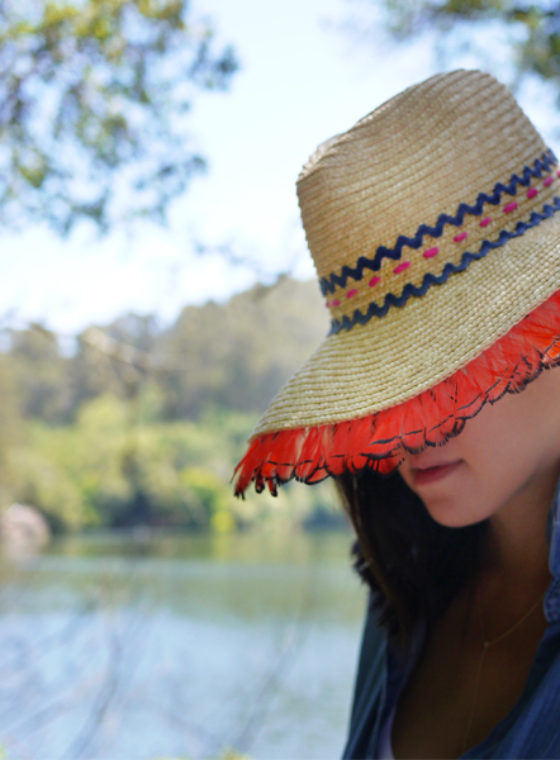
[[[398,472],[346,473],[337,485],[358,537],[354,566],[379,624],[406,646],[416,622],[436,620],[480,566],[488,523],[436,523]]]

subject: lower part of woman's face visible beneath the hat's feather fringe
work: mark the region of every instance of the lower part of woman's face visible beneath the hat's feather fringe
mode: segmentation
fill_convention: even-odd
[[[487,404],[443,446],[406,454],[400,472],[448,527],[485,520],[512,500],[550,499],[560,474],[560,368]]]

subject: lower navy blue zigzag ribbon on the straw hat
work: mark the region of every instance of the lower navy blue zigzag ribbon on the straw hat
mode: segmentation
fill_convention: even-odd
[[[366,322],[369,322],[370,319],[372,319],[372,317],[384,317],[391,306],[404,306],[404,304],[411,296],[423,296],[428,288],[430,288],[432,285],[441,285],[447,281],[450,275],[455,274],[456,272],[463,272],[473,261],[483,259],[494,248],[500,248],[502,245],[504,245],[504,243],[507,243],[508,240],[519,237],[531,227],[536,227],[537,224],[540,224],[540,222],[542,222],[544,219],[549,219],[557,211],[560,211],[560,198],[558,196],[554,196],[551,205],[547,203],[545,206],[543,206],[541,213],[533,211],[529,217],[529,221],[518,222],[513,232],[502,230],[497,240],[485,240],[478,252],[471,253],[470,251],[465,251],[465,253],[463,253],[461,256],[461,261],[459,264],[452,264],[451,262],[447,262],[443,268],[442,273],[438,275],[428,272],[428,274],[424,275],[421,285],[413,285],[412,283],[407,283],[404,286],[403,292],[400,296],[396,296],[394,293],[387,293],[381,306],[376,303],[370,303],[367,311],[365,312],[356,309],[352,316],[345,315],[342,317],[342,319],[333,319],[331,322],[329,335],[339,333],[341,330],[350,330],[352,327],[358,324],[365,325]]]

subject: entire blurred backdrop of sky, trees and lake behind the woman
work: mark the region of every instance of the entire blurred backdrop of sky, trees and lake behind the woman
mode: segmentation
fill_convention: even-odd
[[[231,475],[328,328],[301,165],[457,67],[554,149],[557,3],[1,0],[0,757],[340,755],[350,530]]]

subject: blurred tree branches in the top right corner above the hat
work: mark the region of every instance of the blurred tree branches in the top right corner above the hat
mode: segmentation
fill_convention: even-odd
[[[527,75],[536,75],[553,86],[560,100],[558,3],[551,0],[383,0],[382,6],[386,26],[397,41],[436,30],[445,63],[465,48],[473,49],[477,31],[494,25],[506,35],[518,81]],[[485,48],[484,52],[488,52],[487,42]],[[503,61],[500,64],[503,68]],[[500,72],[496,74],[499,76]]]

